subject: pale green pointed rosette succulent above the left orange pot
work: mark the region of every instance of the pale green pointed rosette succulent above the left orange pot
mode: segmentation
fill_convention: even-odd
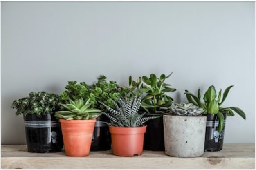
[[[55,112],[55,117],[59,119],[67,119],[67,120],[87,120],[87,119],[96,119],[101,111],[98,109],[92,109],[92,102],[90,98],[84,102],[83,98],[76,99],[72,101],[69,99],[70,103],[60,103],[63,107],[63,110]]]

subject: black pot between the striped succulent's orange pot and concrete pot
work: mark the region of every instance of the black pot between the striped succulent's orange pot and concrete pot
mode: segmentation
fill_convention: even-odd
[[[165,114],[146,114],[146,116],[159,116],[157,119],[150,119],[145,123],[147,130],[144,139],[144,150],[164,151],[164,125],[163,115]]]

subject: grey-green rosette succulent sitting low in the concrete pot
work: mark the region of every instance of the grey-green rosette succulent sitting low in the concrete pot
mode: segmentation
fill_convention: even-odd
[[[175,103],[171,105],[171,114],[178,116],[202,116],[203,109],[192,103]]]

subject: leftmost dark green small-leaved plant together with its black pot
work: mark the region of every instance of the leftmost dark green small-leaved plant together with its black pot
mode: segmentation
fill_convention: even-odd
[[[13,101],[16,115],[23,114],[28,152],[60,152],[63,148],[61,126],[54,117],[59,96],[47,92],[30,92]]]

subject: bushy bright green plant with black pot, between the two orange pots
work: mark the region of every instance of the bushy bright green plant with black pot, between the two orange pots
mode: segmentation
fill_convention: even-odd
[[[62,102],[69,102],[69,99],[76,100],[83,98],[84,101],[90,98],[92,108],[106,111],[105,107],[98,101],[104,101],[105,104],[113,107],[112,100],[117,100],[119,96],[119,87],[115,81],[106,81],[106,76],[100,76],[97,83],[87,85],[85,82],[77,83],[76,81],[69,81],[65,86],[65,91],[61,93]],[[101,114],[97,117],[95,123],[94,134],[92,136],[91,151],[110,150],[111,136],[108,125],[108,117]]]

